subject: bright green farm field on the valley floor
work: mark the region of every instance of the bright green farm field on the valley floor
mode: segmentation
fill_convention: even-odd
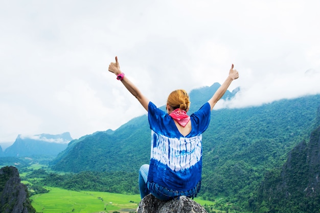
[[[46,187],[49,193],[31,197],[32,206],[37,212],[135,212],[140,195],[122,195],[107,192],[68,191],[62,188]],[[195,199],[201,205],[214,205],[214,202]]]

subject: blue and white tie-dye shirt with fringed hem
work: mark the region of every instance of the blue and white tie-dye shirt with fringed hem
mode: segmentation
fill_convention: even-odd
[[[190,115],[192,130],[182,135],[172,117],[152,102],[148,106],[151,129],[151,157],[148,173],[150,192],[158,184],[168,190],[192,192],[200,189],[202,170],[202,133],[210,123],[211,107],[207,102]]]

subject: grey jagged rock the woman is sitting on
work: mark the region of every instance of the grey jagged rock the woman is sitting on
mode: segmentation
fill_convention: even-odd
[[[208,213],[199,203],[186,196],[162,201],[151,194],[140,201],[136,211],[138,213]]]

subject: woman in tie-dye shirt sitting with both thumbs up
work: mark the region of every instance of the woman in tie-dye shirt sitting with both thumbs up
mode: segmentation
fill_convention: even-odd
[[[188,93],[178,89],[169,94],[167,112],[157,108],[121,72],[118,57],[108,70],[138,99],[148,111],[151,129],[150,165],[139,171],[141,198],[148,194],[161,200],[179,196],[196,197],[202,170],[202,133],[210,123],[210,113],[231,82],[239,77],[232,64],[229,75],[212,98],[192,115]]]

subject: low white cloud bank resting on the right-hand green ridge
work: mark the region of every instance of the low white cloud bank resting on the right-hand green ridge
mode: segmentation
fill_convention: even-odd
[[[318,94],[320,72],[309,69],[305,73],[270,75],[261,81],[252,82],[249,87],[243,86],[236,97],[230,101],[218,102],[216,109],[242,108],[260,106],[281,99],[292,99],[306,95]]]

